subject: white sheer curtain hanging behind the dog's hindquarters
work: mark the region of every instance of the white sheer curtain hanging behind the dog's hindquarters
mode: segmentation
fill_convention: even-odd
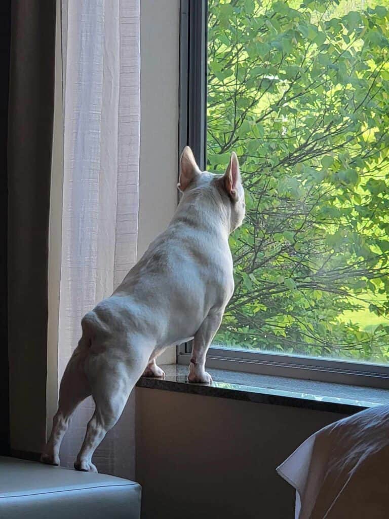
[[[62,0],[64,179],[58,377],[81,317],[135,263],[140,140],[140,0]],[[61,449],[73,466],[93,411],[75,414]],[[134,401],[95,454],[133,477]]]

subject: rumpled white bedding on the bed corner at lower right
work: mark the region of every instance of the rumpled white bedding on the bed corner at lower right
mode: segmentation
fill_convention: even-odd
[[[389,519],[389,405],[321,429],[277,472],[296,489],[295,519]]]

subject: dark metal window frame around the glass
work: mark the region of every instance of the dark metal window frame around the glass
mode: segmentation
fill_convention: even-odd
[[[206,167],[207,0],[180,0],[178,151],[192,148]],[[188,365],[191,342],[177,346],[177,364]],[[389,389],[389,365],[291,356],[211,346],[209,368]]]

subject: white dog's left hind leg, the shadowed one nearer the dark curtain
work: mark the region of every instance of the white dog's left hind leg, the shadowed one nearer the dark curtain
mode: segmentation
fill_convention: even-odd
[[[82,339],[67,363],[60,385],[58,411],[53,418],[50,437],[40,461],[49,465],[59,465],[60,446],[77,405],[91,394],[88,379],[84,373],[87,347]]]

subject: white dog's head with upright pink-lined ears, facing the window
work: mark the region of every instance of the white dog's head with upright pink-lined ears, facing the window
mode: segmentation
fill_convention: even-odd
[[[201,171],[192,150],[186,146],[180,158],[178,189],[184,194],[195,189],[214,192],[215,203],[221,200],[227,209],[230,232],[242,225],[246,206],[238,157],[234,152],[225,173],[220,175]]]

